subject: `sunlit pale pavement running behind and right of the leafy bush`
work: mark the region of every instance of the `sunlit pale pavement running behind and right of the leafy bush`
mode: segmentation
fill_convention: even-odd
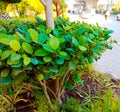
[[[70,20],[83,21],[78,15],[71,15]],[[120,21],[116,20],[115,15],[111,15],[107,21],[103,15],[96,15],[89,19],[84,19],[84,21],[92,24],[98,23],[101,27],[107,27],[114,31],[111,38],[115,39],[118,43],[113,45],[112,50],[107,50],[103,53],[101,59],[94,63],[94,69],[120,79]]]

